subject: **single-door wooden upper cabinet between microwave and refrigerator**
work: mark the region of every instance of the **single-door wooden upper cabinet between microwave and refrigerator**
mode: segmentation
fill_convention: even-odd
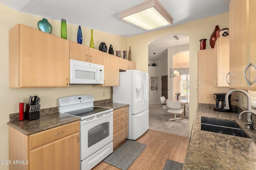
[[[119,57],[103,53],[104,84],[92,86],[119,86]]]

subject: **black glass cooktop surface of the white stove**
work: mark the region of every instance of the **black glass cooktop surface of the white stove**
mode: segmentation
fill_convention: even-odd
[[[78,117],[85,117],[85,116],[89,116],[89,115],[92,115],[95,113],[100,113],[102,111],[107,111],[107,110],[110,110],[110,109],[94,106],[94,107],[88,107],[88,108],[74,110],[74,111],[68,111],[68,112],[66,112],[66,114],[74,115],[74,116],[78,116]]]

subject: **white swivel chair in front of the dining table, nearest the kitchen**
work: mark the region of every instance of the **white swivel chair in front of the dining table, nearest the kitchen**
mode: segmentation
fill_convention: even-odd
[[[167,100],[166,105],[167,107],[169,107],[167,112],[174,114],[174,118],[169,119],[169,121],[175,120],[175,121],[178,121],[179,123],[182,123],[182,121],[180,120],[181,117],[176,117],[177,114],[181,115],[183,112],[183,109],[181,108],[181,105],[180,105],[180,101]]]

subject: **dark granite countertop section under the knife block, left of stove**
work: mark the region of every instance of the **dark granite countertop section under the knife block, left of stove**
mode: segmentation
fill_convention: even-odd
[[[79,117],[65,115],[61,113],[52,113],[48,115],[40,115],[36,120],[23,120],[23,121],[9,121],[7,125],[20,131],[24,135],[32,135],[41,131],[46,131],[54,127],[80,121]]]

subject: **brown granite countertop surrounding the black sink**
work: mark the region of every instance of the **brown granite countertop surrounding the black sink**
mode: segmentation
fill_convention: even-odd
[[[250,136],[250,139],[201,131],[201,117],[235,120]],[[238,119],[238,113],[219,112],[212,108],[198,108],[183,170],[255,170],[256,130],[248,130],[244,127],[244,121]]]

